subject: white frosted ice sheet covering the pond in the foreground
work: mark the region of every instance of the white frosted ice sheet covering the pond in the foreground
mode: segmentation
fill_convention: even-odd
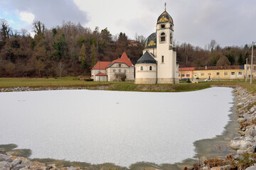
[[[193,142],[223,132],[232,91],[0,93],[0,144],[31,149],[31,158],[122,166],[181,162],[195,154]]]

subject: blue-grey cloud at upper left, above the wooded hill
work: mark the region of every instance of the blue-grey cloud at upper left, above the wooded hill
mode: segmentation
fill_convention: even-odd
[[[61,25],[63,21],[74,23],[87,23],[86,11],[80,11],[73,0],[10,0],[11,8],[21,11],[19,16],[22,21],[31,23],[31,19],[41,21],[46,28]]]

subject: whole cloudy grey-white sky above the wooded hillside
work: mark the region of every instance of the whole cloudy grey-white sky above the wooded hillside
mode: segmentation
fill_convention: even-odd
[[[63,21],[80,22],[112,35],[149,36],[164,11],[174,19],[174,39],[204,47],[216,40],[222,47],[256,41],[255,0],[1,0],[0,18],[16,30],[32,30],[34,20],[50,29]]]

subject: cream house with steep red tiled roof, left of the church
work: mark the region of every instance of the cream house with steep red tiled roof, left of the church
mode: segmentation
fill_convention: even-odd
[[[91,70],[94,81],[134,81],[134,65],[123,52],[112,62],[97,62]]]

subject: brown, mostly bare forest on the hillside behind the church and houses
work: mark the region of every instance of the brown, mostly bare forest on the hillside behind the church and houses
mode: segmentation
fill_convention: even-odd
[[[125,33],[112,35],[107,28],[91,30],[71,21],[50,29],[34,21],[33,37],[26,29],[12,29],[5,19],[0,24],[0,77],[90,75],[97,61],[115,60],[122,52],[136,64],[145,41],[136,35],[139,46],[131,47]],[[204,48],[174,42],[174,49],[180,67],[241,65],[251,55],[251,45],[220,47],[215,40]]]

